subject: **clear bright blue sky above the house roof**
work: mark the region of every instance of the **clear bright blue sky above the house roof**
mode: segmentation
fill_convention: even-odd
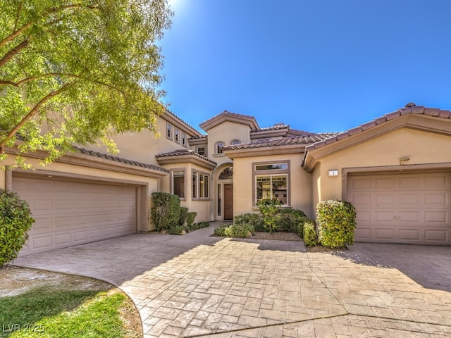
[[[187,123],[339,132],[402,108],[451,109],[451,1],[170,0],[163,101]]]

